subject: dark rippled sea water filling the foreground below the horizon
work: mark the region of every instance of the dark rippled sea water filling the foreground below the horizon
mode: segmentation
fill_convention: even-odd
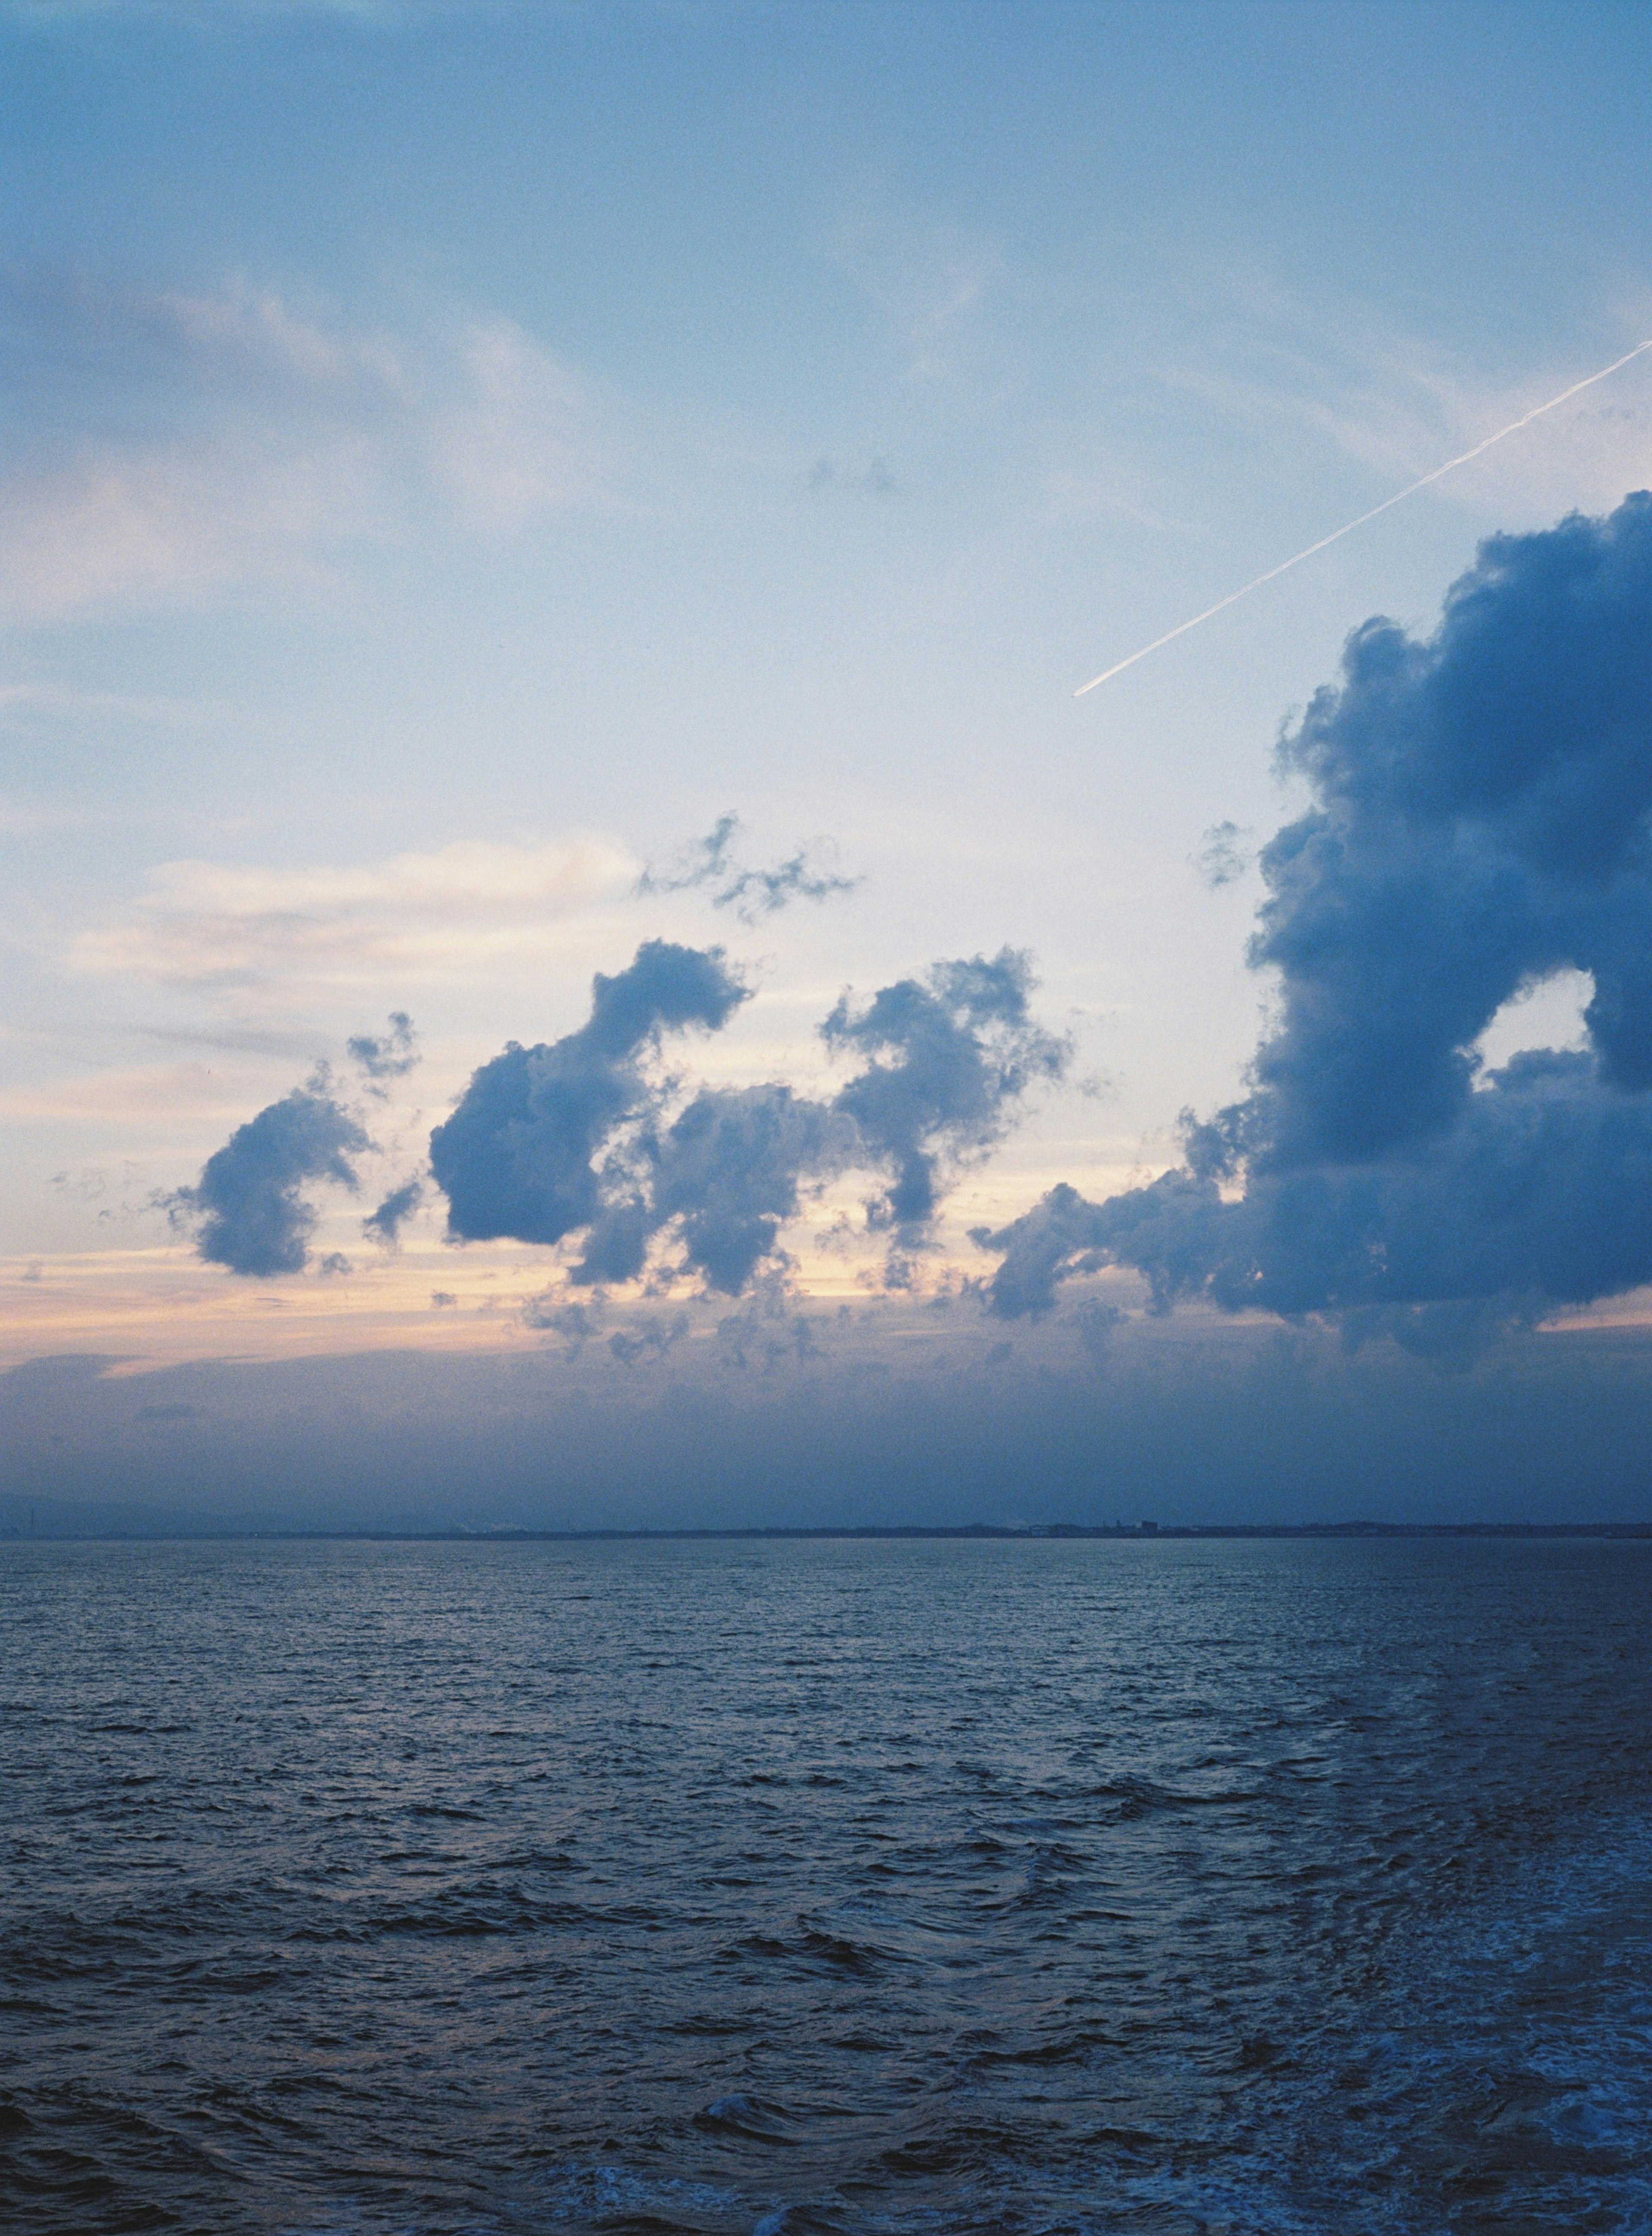
[[[0,2225],[1652,2229],[1652,1545],[0,1547]]]

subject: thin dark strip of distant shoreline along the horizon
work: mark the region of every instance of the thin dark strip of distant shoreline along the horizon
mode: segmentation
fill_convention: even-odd
[[[9,1545],[657,1545],[700,1541],[955,1538],[1026,1543],[1162,1538],[1652,1538],[1652,1523],[999,1523],[749,1529],[0,1529]]]

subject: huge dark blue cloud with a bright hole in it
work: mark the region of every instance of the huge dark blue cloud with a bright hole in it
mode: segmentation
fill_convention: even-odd
[[[1261,856],[1254,1091],[1149,1187],[984,1232],[993,1308],[1118,1263],[1453,1364],[1652,1281],[1652,496],[1489,539],[1426,642],[1366,622],[1281,754],[1312,807]],[[1587,1046],[1487,1069],[1565,970]]]

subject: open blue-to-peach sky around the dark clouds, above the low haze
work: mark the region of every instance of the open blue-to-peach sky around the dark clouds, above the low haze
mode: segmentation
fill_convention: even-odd
[[[1370,615],[1426,637],[1480,539],[1652,481],[1652,360],[1071,693],[1652,335],[1643,9],[42,0],[0,49],[9,1364],[499,1355],[552,1411],[601,1373],[613,1480],[673,1375],[990,1357],[1129,1411],[1165,1346],[1352,1371],[1335,1315],[1156,1319],[1136,1263],[999,1326],[970,1228],[1151,1183],[1247,1093],[1254,854],[1310,803],[1281,722]],[[832,890],[718,906],[724,814],[735,872]],[[362,1234],[648,939],[749,997],[644,1051],[633,1181],[702,1089],[836,1114],[756,1348],[675,1228],[597,1297],[572,1245],[445,1239],[427,1176],[398,1250]],[[934,1116],[943,1201],[892,1228],[887,1140],[823,1147],[858,1058],[820,1022],[1004,948],[1066,1055]],[[1489,1060],[1583,1031],[1569,953],[1520,968]],[[393,1011],[418,1067],[351,1071]],[[317,1062],[355,1194],[302,1181],[302,1270],[237,1275],[179,1192]],[[1538,1301],[1428,1402],[1580,1357]]]

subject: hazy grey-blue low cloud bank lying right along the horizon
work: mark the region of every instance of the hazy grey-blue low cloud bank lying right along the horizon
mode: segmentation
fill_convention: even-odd
[[[1513,1335],[1480,1375],[1238,1321],[993,1344],[765,1288],[519,1348],[0,1373],[0,1529],[1643,1520],[1645,1328]],[[720,1321],[706,1330],[709,1319]],[[615,1344],[615,1337],[621,1337]],[[988,1368],[993,1351],[1008,1351]],[[545,1456],[554,1453],[554,1465]]]

